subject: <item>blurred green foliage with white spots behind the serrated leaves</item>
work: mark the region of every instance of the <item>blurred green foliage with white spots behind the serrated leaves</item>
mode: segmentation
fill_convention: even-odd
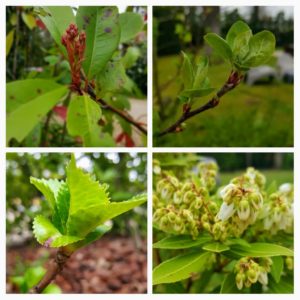
[[[147,155],[144,153],[82,153],[77,164],[109,184],[112,201],[123,201],[145,192]],[[65,179],[69,154],[8,153],[6,160],[6,232],[7,245],[20,246],[33,242],[32,219],[37,214],[50,215],[50,207],[29,177]],[[145,238],[146,205],[114,219],[111,234]]]

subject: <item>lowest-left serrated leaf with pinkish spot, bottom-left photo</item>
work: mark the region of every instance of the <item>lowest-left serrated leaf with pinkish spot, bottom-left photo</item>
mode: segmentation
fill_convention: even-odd
[[[40,244],[54,248],[66,246],[82,239],[78,236],[62,235],[48,219],[41,215],[34,218],[33,234]]]

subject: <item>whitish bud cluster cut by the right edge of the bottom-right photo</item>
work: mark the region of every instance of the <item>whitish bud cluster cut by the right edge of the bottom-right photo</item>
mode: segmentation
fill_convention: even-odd
[[[271,194],[263,209],[264,229],[276,234],[278,231],[293,231],[293,186],[285,183]]]

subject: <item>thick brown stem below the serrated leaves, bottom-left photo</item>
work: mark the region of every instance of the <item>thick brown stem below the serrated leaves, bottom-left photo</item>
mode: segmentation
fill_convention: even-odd
[[[63,268],[70,256],[71,256],[71,253],[67,252],[65,248],[59,248],[55,255],[55,258],[51,261],[46,274],[41,279],[41,281],[29,291],[29,293],[30,294],[42,293],[43,290],[63,270]]]

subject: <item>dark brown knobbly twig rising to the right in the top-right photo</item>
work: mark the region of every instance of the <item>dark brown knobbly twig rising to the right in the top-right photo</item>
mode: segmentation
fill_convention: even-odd
[[[208,109],[216,107],[220,102],[220,98],[226,93],[228,93],[229,91],[233,90],[236,86],[238,86],[242,81],[242,79],[243,79],[243,75],[239,74],[237,71],[232,71],[230,73],[229,78],[222,86],[222,88],[207,103],[194,110],[191,110],[190,106],[184,105],[183,113],[181,117],[173,125],[165,129],[164,131],[160,132],[157,136],[162,137],[168,133],[172,133],[172,132],[176,133],[182,131],[183,129],[181,127],[181,124],[183,122]]]

